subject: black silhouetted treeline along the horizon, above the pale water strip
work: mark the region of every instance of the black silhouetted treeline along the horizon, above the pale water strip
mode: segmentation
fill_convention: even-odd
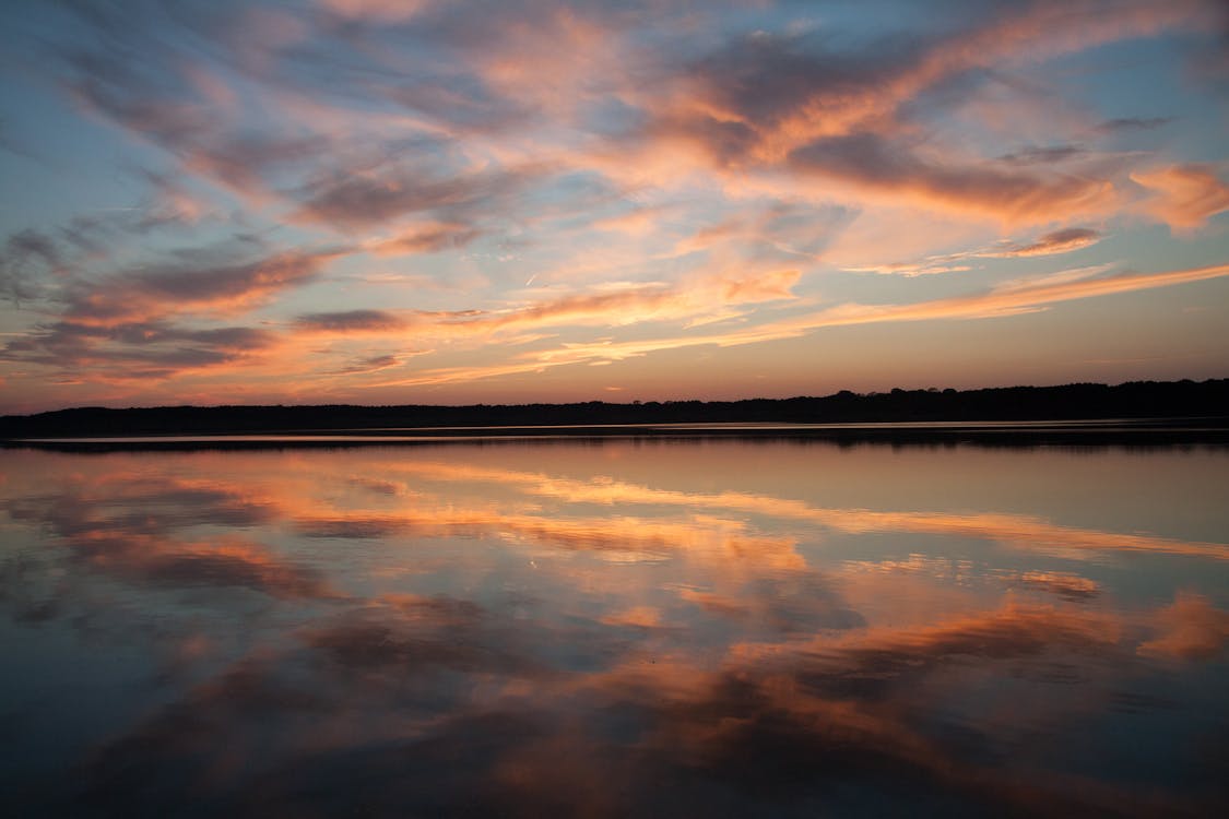
[[[156,406],[6,415],[0,438],[329,432],[461,426],[612,424],[1008,421],[1229,417],[1229,378],[1118,386],[893,389],[822,398],[466,406]]]

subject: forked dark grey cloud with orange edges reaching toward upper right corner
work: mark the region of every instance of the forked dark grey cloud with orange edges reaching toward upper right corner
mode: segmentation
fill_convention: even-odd
[[[885,193],[901,185],[901,193],[916,195],[923,187],[941,193],[940,203],[964,196],[971,199],[968,204],[991,205],[989,193],[1005,190],[1014,200],[1007,203],[1005,216],[1040,217],[1040,210],[1021,212],[1025,188],[1037,188],[1034,195],[1061,204],[1077,195],[1078,180],[992,173],[971,160],[916,160],[901,139],[913,130],[907,126],[909,103],[944,82],[976,81],[986,69],[1035,63],[1166,27],[1197,27],[1212,15],[1200,2],[1165,7],[1036,2],[995,9],[959,31],[878,43],[881,48],[865,47],[860,53],[817,36],[755,32],[731,39],[667,80],[666,96],[645,103],[654,113],[645,133],[689,141],[726,168],[805,157],[810,145],[811,165],[826,152],[823,158],[847,174],[857,169],[858,179],[874,182]],[[842,145],[842,139],[860,145]],[[875,174],[871,166],[885,160],[896,173]]]

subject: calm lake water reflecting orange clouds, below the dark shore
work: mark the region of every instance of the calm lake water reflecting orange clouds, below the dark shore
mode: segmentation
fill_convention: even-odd
[[[0,452],[0,813],[1215,815],[1229,449]]]

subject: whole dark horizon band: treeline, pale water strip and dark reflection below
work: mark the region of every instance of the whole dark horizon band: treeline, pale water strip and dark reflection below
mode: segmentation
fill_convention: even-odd
[[[1229,378],[1113,387],[893,389],[869,394],[843,390],[822,398],[739,402],[77,408],[0,417],[0,442],[54,438],[85,444],[86,438],[140,438],[141,443],[154,443],[167,436],[270,435],[345,435],[361,437],[358,443],[369,438],[390,443],[392,436],[420,441],[629,435],[897,442],[1220,442],[1229,435]]]

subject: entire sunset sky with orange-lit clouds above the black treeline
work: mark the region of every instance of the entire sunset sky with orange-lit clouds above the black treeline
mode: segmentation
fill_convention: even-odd
[[[16,0],[0,413],[1229,376],[1220,0]]]

